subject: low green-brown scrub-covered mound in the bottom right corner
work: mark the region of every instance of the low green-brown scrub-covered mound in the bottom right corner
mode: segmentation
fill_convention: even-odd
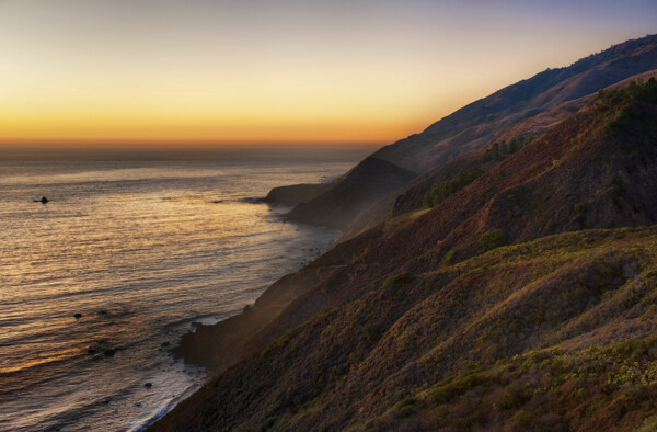
[[[625,345],[644,348],[632,357]],[[606,421],[646,428],[656,401],[655,338],[607,349],[531,351],[491,368],[434,384],[404,400],[413,401],[413,419],[396,405],[364,429],[573,430]],[[652,430],[652,429],[646,429]]]

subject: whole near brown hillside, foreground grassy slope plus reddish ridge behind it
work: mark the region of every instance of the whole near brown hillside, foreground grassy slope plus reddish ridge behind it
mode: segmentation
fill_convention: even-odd
[[[480,162],[268,291],[250,355],[153,429],[653,428],[657,82]]]

